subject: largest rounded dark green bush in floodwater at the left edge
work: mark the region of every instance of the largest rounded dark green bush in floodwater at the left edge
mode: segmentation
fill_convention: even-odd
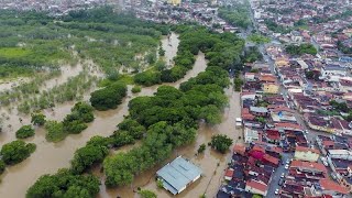
[[[8,165],[18,164],[28,158],[35,151],[35,144],[13,141],[1,147],[2,161]]]

